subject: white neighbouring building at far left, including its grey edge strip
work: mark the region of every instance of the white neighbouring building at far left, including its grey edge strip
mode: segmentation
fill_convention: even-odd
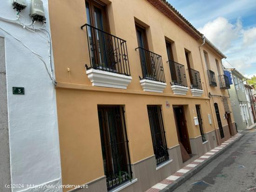
[[[50,191],[33,185],[61,185],[48,3],[43,0],[47,32],[31,31],[30,5],[27,0],[17,20],[11,0],[0,3],[0,192]],[[34,28],[42,24],[35,22]],[[53,57],[51,63],[54,66]],[[25,94],[13,94],[13,87],[24,87]],[[15,93],[22,92],[15,89]],[[10,184],[17,184],[16,188],[7,188]]]

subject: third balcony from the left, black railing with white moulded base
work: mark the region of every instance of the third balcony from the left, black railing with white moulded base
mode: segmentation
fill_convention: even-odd
[[[172,77],[171,88],[174,94],[186,95],[189,90],[185,67],[173,60],[167,61]]]

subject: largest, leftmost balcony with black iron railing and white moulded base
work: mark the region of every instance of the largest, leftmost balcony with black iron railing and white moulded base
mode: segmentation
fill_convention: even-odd
[[[132,79],[126,40],[94,26],[84,26],[90,58],[86,73],[92,85],[126,89]]]

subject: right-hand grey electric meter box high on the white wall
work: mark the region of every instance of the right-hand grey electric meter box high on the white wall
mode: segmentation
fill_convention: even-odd
[[[30,17],[33,21],[43,22],[46,20],[42,0],[31,0]]]

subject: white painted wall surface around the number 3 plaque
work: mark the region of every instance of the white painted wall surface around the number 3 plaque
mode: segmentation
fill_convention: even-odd
[[[47,18],[46,29],[50,30],[47,0],[43,0],[43,3]],[[26,17],[28,24],[31,22],[28,16],[30,0],[27,0],[27,4],[21,14]],[[1,0],[0,17],[16,19],[11,0]],[[21,17],[21,20],[24,21],[24,18]],[[3,21],[0,21],[0,27],[12,33],[48,62],[47,41],[38,34]],[[24,188],[13,189],[13,192],[44,191],[27,188],[27,184],[61,185],[55,89],[43,63],[33,53],[1,29],[0,36],[5,38],[6,43],[11,179],[12,184],[24,184]],[[13,86],[25,87],[25,95],[13,95]]]

